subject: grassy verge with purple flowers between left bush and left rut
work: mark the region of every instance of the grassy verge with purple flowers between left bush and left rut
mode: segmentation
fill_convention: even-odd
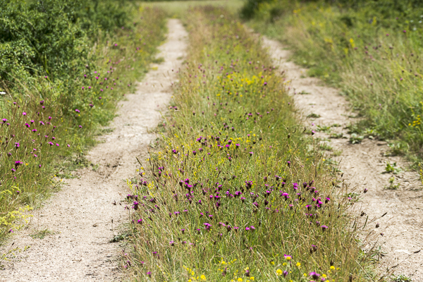
[[[87,165],[83,155],[100,126],[147,72],[164,40],[166,18],[156,8],[141,8],[127,20],[132,19],[129,27],[92,42],[92,61],[80,67],[85,69],[80,76],[34,75],[1,97],[0,243],[72,169]]]

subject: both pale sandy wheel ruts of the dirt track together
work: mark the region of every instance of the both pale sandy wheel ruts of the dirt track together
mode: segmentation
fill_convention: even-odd
[[[93,171],[85,168],[75,173],[78,178],[68,180],[63,190],[43,209],[35,212],[34,220],[20,231],[6,246],[24,249],[17,252],[16,259],[0,271],[0,281],[116,281],[119,279],[119,266],[116,261],[118,245],[108,243],[117,234],[116,226],[125,222],[125,210],[120,201],[126,193],[125,179],[135,173],[135,157],[143,156],[155,135],[147,128],[159,123],[160,111],[166,110],[171,97],[171,82],[176,79],[176,70],[185,54],[187,36],[179,20],[169,20],[169,35],[166,44],[161,46],[164,63],[157,70],[147,73],[136,94],[127,95],[121,102],[119,116],[111,124],[114,132],[102,137],[102,142],[88,154],[92,164],[99,164]],[[354,114],[349,111],[345,97],[338,90],[320,86],[316,78],[305,77],[306,70],[288,61],[289,51],[274,40],[263,38],[265,47],[274,64],[286,71],[290,80],[290,93],[295,104],[302,111],[309,128],[317,125],[333,125],[332,133],[343,133],[349,137],[345,126],[354,122]],[[171,70],[175,69],[174,72]],[[318,118],[306,118],[316,114]],[[313,125],[314,124],[314,125]],[[326,133],[317,133],[326,138]],[[388,150],[385,142],[364,139],[351,145],[348,138],[331,139],[328,144],[334,150],[342,150],[337,161],[341,161],[345,182],[350,189],[369,189],[362,202],[356,205],[357,213],[364,211],[369,218],[378,219],[379,235],[382,243],[381,269],[396,266],[396,274],[412,276],[413,281],[423,281],[423,252],[413,254],[423,248],[423,193],[422,183],[417,173],[406,171],[393,175],[384,173],[386,162],[395,162],[406,168],[400,157],[384,157]],[[388,179],[394,176],[398,190],[386,190]],[[116,201],[116,205],[112,202]],[[113,228],[111,220],[114,220]],[[374,223],[372,223],[374,224]],[[32,239],[35,228],[48,228],[53,235]],[[114,229],[114,230],[113,230]],[[373,242],[369,242],[367,249]],[[2,250],[4,251],[4,250]]]

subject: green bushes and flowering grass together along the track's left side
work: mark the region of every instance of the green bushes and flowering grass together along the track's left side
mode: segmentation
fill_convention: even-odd
[[[165,15],[123,1],[0,1],[0,243],[147,72]]]

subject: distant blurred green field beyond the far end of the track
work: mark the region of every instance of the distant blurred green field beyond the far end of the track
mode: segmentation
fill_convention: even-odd
[[[145,6],[163,8],[170,16],[178,16],[192,6],[224,6],[230,11],[237,11],[243,6],[243,0],[200,0],[200,1],[154,1],[143,2]]]

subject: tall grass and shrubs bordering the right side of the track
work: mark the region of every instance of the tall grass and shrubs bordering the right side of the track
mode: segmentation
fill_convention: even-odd
[[[243,17],[347,95],[360,118],[351,133],[388,140],[391,154],[421,166],[422,1],[250,0]]]

